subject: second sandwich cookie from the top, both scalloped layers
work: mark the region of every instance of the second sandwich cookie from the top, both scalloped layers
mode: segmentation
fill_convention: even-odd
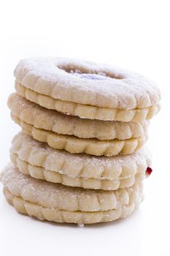
[[[64,149],[72,154],[108,157],[131,154],[143,146],[147,139],[146,121],[143,124],[108,121],[107,124],[107,121],[64,116],[28,102],[17,94],[9,97],[8,105],[12,119],[24,132],[53,148]],[[124,135],[123,130],[126,130]]]

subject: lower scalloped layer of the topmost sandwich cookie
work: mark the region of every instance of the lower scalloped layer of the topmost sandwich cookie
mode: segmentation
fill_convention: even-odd
[[[20,83],[15,81],[15,89],[17,93],[26,97],[26,99],[42,107],[57,110],[58,112],[66,115],[79,116],[80,118],[98,119],[105,121],[134,121],[143,122],[149,120],[158,113],[161,106],[153,105],[148,108],[123,110],[123,109],[111,109],[111,108],[99,108],[90,105],[81,105],[74,102],[66,102],[60,99],[53,99],[45,94],[39,94],[36,91],[25,88]]]

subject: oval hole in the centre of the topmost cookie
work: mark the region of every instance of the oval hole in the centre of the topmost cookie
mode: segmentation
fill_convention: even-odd
[[[92,79],[92,80],[110,80],[110,79],[123,79],[121,75],[114,75],[108,72],[97,72],[93,69],[85,69],[84,67],[76,67],[74,65],[60,66],[69,74],[75,75],[79,78]]]

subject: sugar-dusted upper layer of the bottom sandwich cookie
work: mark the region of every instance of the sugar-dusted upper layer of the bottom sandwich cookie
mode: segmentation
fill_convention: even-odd
[[[66,211],[109,211],[117,208],[118,203],[127,204],[131,190],[136,191],[142,185],[117,189],[116,192],[65,187],[23,175],[11,164],[1,176],[4,187],[13,195],[45,208]]]

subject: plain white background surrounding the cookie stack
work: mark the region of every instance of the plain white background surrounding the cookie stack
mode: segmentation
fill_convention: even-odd
[[[6,102],[20,59],[63,56],[114,64],[157,81],[162,92],[147,143],[153,173],[139,210],[109,224],[58,225],[18,214],[0,193],[0,255],[170,255],[169,10],[168,0],[0,0],[1,169],[19,130]]]

